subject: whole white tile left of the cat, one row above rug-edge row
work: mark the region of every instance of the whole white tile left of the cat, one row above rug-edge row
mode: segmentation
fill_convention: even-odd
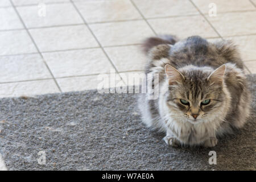
[[[55,77],[109,73],[114,69],[101,48],[43,53]]]

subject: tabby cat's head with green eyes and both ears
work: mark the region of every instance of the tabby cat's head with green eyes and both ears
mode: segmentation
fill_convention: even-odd
[[[166,65],[169,87],[166,102],[172,118],[198,123],[222,115],[226,99],[223,89],[225,70],[225,65],[215,70],[189,65],[179,71]]]

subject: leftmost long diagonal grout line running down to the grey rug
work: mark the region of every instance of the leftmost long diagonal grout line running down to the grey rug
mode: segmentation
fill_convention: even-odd
[[[44,64],[46,65],[46,67],[47,67],[49,73],[51,74],[51,76],[52,76],[52,78],[53,78],[53,81],[55,82],[57,88],[59,89],[60,92],[62,92],[62,91],[61,91],[61,88],[60,88],[60,86],[59,86],[59,84],[57,83],[55,77],[53,76],[53,73],[52,73],[51,69],[49,69],[49,66],[48,66],[48,64],[46,63],[46,60],[44,60],[44,57],[43,57],[42,53],[39,51],[39,48],[38,48],[38,46],[36,45],[35,40],[32,38],[32,35],[31,35],[30,32],[28,31],[28,29],[27,29],[27,27],[26,27],[26,24],[23,22],[23,20],[22,20],[20,14],[19,14],[19,12],[18,12],[18,10],[17,10],[16,7],[14,6],[13,1],[10,0],[10,3],[11,3],[11,5],[13,6],[13,8],[14,8],[16,14],[19,16],[20,22],[22,22],[23,27],[24,27],[25,30],[27,31],[28,36],[30,36],[30,39],[32,40],[32,42],[33,42],[33,44],[34,44],[36,50],[38,51],[39,55],[41,56],[41,58],[42,58]]]

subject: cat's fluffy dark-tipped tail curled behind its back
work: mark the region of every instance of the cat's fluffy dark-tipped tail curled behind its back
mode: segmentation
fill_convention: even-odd
[[[157,37],[151,37],[144,40],[142,47],[144,53],[148,53],[151,48],[158,46],[160,44],[175,44],[179,40],[174,35],[161,35]]]

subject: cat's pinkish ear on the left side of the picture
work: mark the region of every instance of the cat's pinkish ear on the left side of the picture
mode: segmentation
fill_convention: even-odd
[[[177,69],[172,67],[170,64],[167,64],[164,67],[164,69],[166,71],[169,85],[173,85],[173,84],[175,84],[175,82],[181,82],[182,80],[185,79],[184,76],[182,75],[182,73],[177,71]]]

